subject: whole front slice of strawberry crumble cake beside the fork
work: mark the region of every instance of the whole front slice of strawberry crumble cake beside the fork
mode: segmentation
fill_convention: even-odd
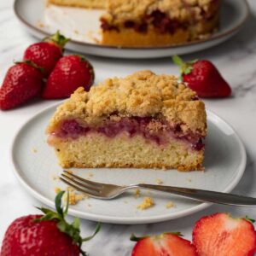
[[[61,166],[201,170],[205,105],[172,75],[150,71],[79,88],[47,128]]]

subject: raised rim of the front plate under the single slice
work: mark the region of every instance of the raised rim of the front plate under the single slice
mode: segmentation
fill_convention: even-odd
[[[41,195],[36,189],[32,189],[29,183],[26,182],[26,178],[21,175],[21,170],[16,165],[15,161],[15,143],[17,139],[19,138],[20,132],[26,129],[26,125],[29,125],[33,119],[38,118],[38,115],[43,114],[47,111],[49,111],[51,108],[56,108],[59,106],[61,102],[55,103],[50,105],[47,108],[44,108],[43,110],[38,111],[37,113],[33,114],[32,117],[28,118],[23,122],[22,125],[20,125],[20,128],[15,132],[15,136],[12,139],[10,148],[9,148],[9,161],[12,168],[12,171],[15,174],[15,177],[18,179],[18,181],[21,183],[21,185],[26,189],[27,192],[29,192],[30,195],[38,199],[38,201],[43,202],[45,205],[49,207],[55,207],[55,202],[48,199],[46,196]],[[221,192],[228,193],[232,191],[236,187],[236,185],[240,182],[241,177],[243,176],[245,169],[246,169],[246,163],[247,163],[247,154],[246,149],[241,142],[241,138],[238,136],[234,128],[226,122],[223,118],[219,117],[218,114],[213,113],[210,110],[207,110],[207,116],[212,116],[214,119],[218,119],[222,121],[224,125],[226,125],[230,131],[232,131],[232,134],[236,138],[236,142],[239,146],[239,151],[241,152],[241,162],[240,165],[237,167],[239,169],[238,173],[236,174],[236,177],[234,180]],[[81,212],[80,210],[69,208],[68,215],[88,219],[91,221],[101,221],[103,223],[109,223],[109,224],[151,224],[151,223],[157,223],[157,222],[163,222],[166,220],[171,220],[175,218],[182,218],[184,216],[189,216],[195,212],[200,212],[201,210],[210,207],[212,203],[202,202],[199,205],[195,207],[190,207],[189,209],[183,210],[182,212],[174,212],[171,214],[164,214],[161,216],[148,216],[148,217],[113,217],[113,216],[104,216],[104,215],[98,215],[96,213],[91,212]]]

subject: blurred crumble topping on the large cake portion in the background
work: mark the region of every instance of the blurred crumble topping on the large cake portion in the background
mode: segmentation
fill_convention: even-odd
[[[118,26],[127,20],[140,22],[155,10],[172,20],[201,20],[204,13],[218,9],[218,4],[212,0],[109,0],[107,9],[108,13],[102,15],[102,19]]]

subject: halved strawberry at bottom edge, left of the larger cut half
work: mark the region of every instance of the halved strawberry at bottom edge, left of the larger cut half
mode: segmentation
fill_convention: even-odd
[[[131,256],[196,256],[195,247],[179,233],[164,233],[160,236],[131,236],[137,241]]]

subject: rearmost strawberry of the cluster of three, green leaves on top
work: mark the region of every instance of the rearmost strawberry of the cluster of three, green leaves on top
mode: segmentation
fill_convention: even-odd
[[[43,42],[30,45],[24,53],[23,60],[33,61],[38,67],[44,69],[44,77],[48,78],[49,73],[54,69],[55,64],[62,57],[62,52],[68,39],[56,32]]]

